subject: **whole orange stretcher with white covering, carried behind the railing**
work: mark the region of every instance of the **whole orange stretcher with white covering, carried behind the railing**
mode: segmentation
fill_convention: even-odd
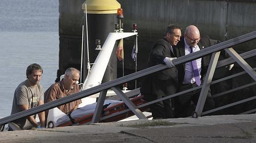
[[[143,96],[138,96],[130,99],[136,106],[140,104],[146,103],[146,100],[143,100]],[[96,107],[95,104],[86,105],[85,108],[78,108],[77,110],[74,110],[70,114],[67,114],[65,116],[62,116],[58,118],[56,121],[49,121],[48,122],[48,128],[54,128],[54,127],[65,127],[65,126],[72,126],[72,125],[81,125],[86,124],[90,122],[93,118],[93,113]],[[109,116],[114,113],[126,110],[128,107],[123,101],[118,100],[105,100],[103,105],[103,110],[100,115],[100,117]],[[145,106],[142,108],[139,108],[142,112],[149,111],[149,107]],[[130,116],[133,116],[134,113],[129,111],[122,113],[120,115],[112,116],[110,118],[107,118],[105,120],[100,120],[99,122],[114,122],[126,119]]]

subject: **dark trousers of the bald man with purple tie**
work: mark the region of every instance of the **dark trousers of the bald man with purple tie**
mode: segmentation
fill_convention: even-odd
[[[181,85],[178,92],[191,89],[197,86],[195,83],[189,85]],[[201,89],[194,90],[189,93],[182,94],[178,97],[175,97],[175,117],[188,117],[192,115],[192,112],[195,111],[195,106],[198,102]],[[192,102],[191,102],[192,101]],[[215,108],[215,102],[211,97],[211,90],[209,89],[205,104],[203,106],[203,111],[211,110]]]

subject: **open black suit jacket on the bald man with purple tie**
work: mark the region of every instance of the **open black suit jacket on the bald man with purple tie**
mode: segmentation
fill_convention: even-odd
[[[173,46],[175,49],[175,54],[177,58],[184,56],[185,55],[185,43],[184,43],[184,37],[181,37],[181,40],[176,46]],[[203,48],[207,48],[209,46],[213,46],[215,44],[221,43],[219,40],[213,40],[210,39],[207,35],[204,35],[201,37],[198,46],[200,50]],[[211,59],[211,55],[207,55],[202,57],[202,64],[201,64],[201,79],[205,76],[207,72],[207,68],[209,66],[209,62]],[[179,70],[179,84],[182,84],[185,76],[185,63],[178,65],[178,70]]]

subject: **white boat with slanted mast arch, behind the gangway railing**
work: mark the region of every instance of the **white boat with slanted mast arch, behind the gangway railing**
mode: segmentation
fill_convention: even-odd
[[[93,63],[93,66],[91,70],[89,70],[88,76],[85,79],[83,86],[81,88],[82,90],[92,88],[94,86],[100,85],[102,83],[102,78],[104,76],[107,64],[109,62],[111,53],[114,49],[114,45],[117,40],[119,39],[124,39],[126,37],[138,35],[137,32],[112,32],[108,35],[105,43],[102,46],[102,49],[100,50],[98,57],[96,58],[95,62]],[[127,92],[128,90],[123,91],[124,93]],[[106,96],[113,96],[116,95],[114,91],[109,90],[107,92]],[[89,109],[94,106],[96,107],[96,98],[99,97],[99,93],[94,94],[90,97],[85,97],[82,98],[82,103],[79,104],[79,108],[85,108],[82,111],[86,110],[86,105],[89,107]],[[92,105],[93,104],[93,105]],[[94,110],[93,110],[94,112]],[[146,112],[146,116],[151,115],[151,113]],[[47,127],[53,128],[54,126],[63,123],[63,120],[58,120],[61,119],[61,117],[66,116],[65,113],[61,112],[58,108],[53,108],[49,110],[48,113],[48,119],[47,119]],[[130,117],[129,120],[136,120],[138,119],[137,116]],[[127,120],[127,119],[126,119]],[[58,123],[60,122],[60,123]],[[51,123],[51,124],[49,124]],[[48,125],[49,124],[49,125]]]

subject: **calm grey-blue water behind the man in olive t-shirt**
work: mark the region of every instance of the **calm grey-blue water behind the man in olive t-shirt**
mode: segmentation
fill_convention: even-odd
[[[43,67],[46,90],[58,70],[58,0],[0,2],[0,117],[10,115],[16,86],[32,63]]]

